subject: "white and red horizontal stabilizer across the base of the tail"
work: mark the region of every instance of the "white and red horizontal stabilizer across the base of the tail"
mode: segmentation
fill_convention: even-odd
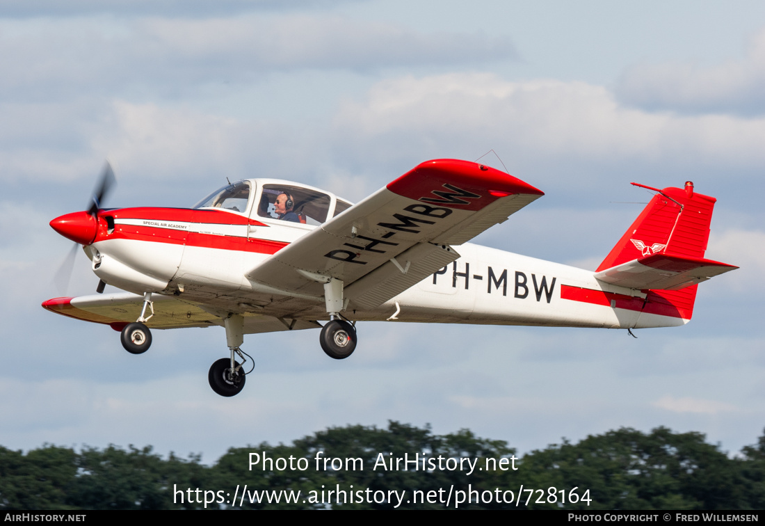
[[[630,289],[679,290],[737,268],[700,257],[653,254],[601,270],[595,278]]]

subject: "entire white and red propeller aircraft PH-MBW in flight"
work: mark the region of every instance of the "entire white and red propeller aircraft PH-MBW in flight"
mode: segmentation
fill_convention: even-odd
[[[357,320],[669,327],[691,319],[697,283],[737,268],[703,259],[715,198],[690,181],[638,185],[656,195],[592,272],[467,243],[543,195],[475,162],[424,162],[355,205],[250,179],[193,208],[101,208],[111,178],[107,165],[90,210],[50,226],[83,245],[98,292],[129,292],[43,307],[110,325],[134,354],[149,328],[223,326],[230,355],[208,378],[225,397],[252,371],[245,334],[321,328],[321,348],[341,359]]]

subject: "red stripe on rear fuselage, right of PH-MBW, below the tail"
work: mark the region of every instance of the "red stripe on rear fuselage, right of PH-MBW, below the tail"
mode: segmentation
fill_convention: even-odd
[[[591,303],[592,305],[603,305],[610,307],[614,302],[615,309],[627,309],[631,311],[642,311],[646,314],[656,314],[661,316],[671,316],[672,318],[691,319],[693,305],[678,305],[673,302],[675,299],[669,290],[649,290],[646,299],[627,296],[626,294],[617,294],[615,292],[604,292],[602,290],[583,289],[570,285],[561,286],[561,299],[569,299],[575,302]]]

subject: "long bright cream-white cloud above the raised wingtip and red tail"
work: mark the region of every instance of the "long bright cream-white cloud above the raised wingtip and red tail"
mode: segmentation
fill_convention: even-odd
[[[620,106],[601,86],[510,82],[493,74],[384,80],[366,100],[345,103],[336,126],[363,139],[389,136],[397,139],[397,149],[407,151],[431,143],[454,149],[467,139],[501,140],[516,150],[573,158],[692,155],[735,165],[765,161],[765,119],[651,114]]]

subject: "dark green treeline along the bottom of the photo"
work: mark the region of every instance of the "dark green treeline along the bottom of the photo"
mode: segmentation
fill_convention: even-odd
[[[405,453],[409,460],[418,454],[420,469],[412,462],[409,470],[401,464],[386,469]],[[398,422],[387,429],[331,428],[289,446],[232,448],[214,466],[203,465],[199,456],[163,459],[151,447],[76,452],[43,446],[26,455],[0,447],[0,510],[383,509],[396,505],[395,498],[375,501],[390,490],[407,492],[409,503],[404,500],[399,508],[446,508],[450,488],[449,508],[454,508],[454,492],[474,492],[464,494],[467,501],[460,509],[765,508],[765,436],[736,458],[706,443],[702,433],[672,433],[664,427],[648,434],[620,429],[515,456],[505,441],[482,439],[469,430],[434,435],[429,428]],[[324,465],[324,458],[338,460]],[[461,458],[469,461],[459,469]],[[264,459],[269,459],[265,465]],[[426,470],[422,459],[431,459]],[[470,462],[474,469],[468,475]],[[245,485],[248,493],[242,500]],[[327,494],[337,489],[345,491],[342,498]],[[264,490],[275,490],[268,494],[271,502],[267,494],[254,493]],[[301,498],[285,502],[282,490],[299,490]],[[422,497],[417,503],[412,501],[415,491]],[[350,492],[362,493],[356,499]],[[507,502],[519,495],[519,506]]]

